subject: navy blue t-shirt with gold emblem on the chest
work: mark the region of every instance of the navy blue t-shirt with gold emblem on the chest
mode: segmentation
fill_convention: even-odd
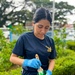
[[[42,68],[44,70],[48,69],[48,60],[54,59],[56,57],[55,44],[53,39],[45,35],[45,38],[41,40],[34,35],[34,32],[22,34],[16,42],[13,53],[18,56],[24,57],[24,59],[35,58],[35,55],[38,54],[42,63]],[[30,67],[26,67],[24,70],[36,72],[35,69]]]

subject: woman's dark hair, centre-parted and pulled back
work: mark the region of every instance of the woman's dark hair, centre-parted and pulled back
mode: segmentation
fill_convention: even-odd
[[[51,14],[49,12],[49,10],[47,10],[46,8],[44,7],[40,7],[38,8],[35,13],[34,13],[34,16],[33,16],[33,21],[34,23],[37,23],[39,20],[41,19],[46,19],[50,22],[52,22],[52,18],[51,18]]]

